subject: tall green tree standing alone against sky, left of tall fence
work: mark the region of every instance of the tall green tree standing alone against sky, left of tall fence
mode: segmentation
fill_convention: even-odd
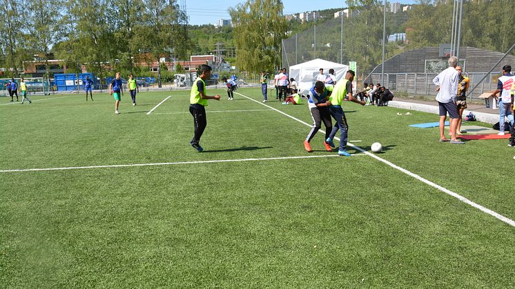
[[[231,8],[236,64],[240,70],[272,71],[281,64],[281,41],[288,25],[281,0],[247,0]]]

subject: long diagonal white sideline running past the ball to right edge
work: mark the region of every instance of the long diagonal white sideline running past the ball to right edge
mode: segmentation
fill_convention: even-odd
[[[280,110],[277,110],[275,108],[272,108],[271,106],[268,106],[266,105],[265,103],[262,103],[261,101],[256,101],[255,99],[251,99],[250,97],[247,97],[246,95],[243,95],[241,93],[238,93],[238,92],[234,92],[235,94],[239,94],[241,95],[242,97],[245,97],[246,99],[250,99],[251,101],[255,101],[256,103],[259,103],[261,104],[262,106],[266,106],[268,108],[271,108],[277,112],[280,112],[281,114],[284,114],[286,117],[289,117],[291,119],[295,119],[296,121],[300,122],[300,123],[304,123],[305,125],[307,126],[312,126],[308,123],[306,123],[305,121],[301,121],[300,119],[296,118],[296,117],[292,117],[291,115],[289,114],[286,114],[285,112],[282,112]],[[324,130],[319,130],[320,132],[322,133],[325,133]],[[338,139],[340,140],[338,137],[335,137],[335,139]],[[404,172],[406,175],[409,175],[410,177],[414,177],[415,179],[418,179],[419,181],[422,181],[423,183],[426,183],[427,185],[433,187],[433,188],[436,188],[442,192],[445,192],[447,195],[449,196],[452,196],[452,197],[455,197],[456,199],[460,200],[460,201],[463,201],[463,203],[467,203],[468,205],[474,207],[474,208],[477,208],[478,210],[482,211],[482,212],[485,212],[487,213],[488,215],[491,215],[492,217],[496,217],[497,219],[507,223],[508,225],[510,226],[513,226],[515,227],[515,221],[512,220],[512,219],[509,219],[501,214],[498,214],[497,212],[494,212],[493,210],[490,210],[489,208],[485,208],[481,205],[479,205],[478,203],[474,203],[473,201],[470,201],[469,199],[461,196],[461,195],[458,195],[456,194],[456,192],[452,192],[451,190],[448,190],[447,188],[443,188],[442,186],[436,184],[436,183],[433,183],[432,181],[429,181],[428,179],[425,179],[423,177],[420,177],[419,175],[416,175],[415,173],[413,172],[410,172],[409,170],[406,170],[405,168],[401,168],[400,166],[397,166],[396,164],[394,163],[391,163],[390,161],[387,161],[386,159],[382,159],[380,157],[378,157],[377,155],[374,155],[373,153],[371,152],[367,152],[366,150],[363,150],[362,148],[358,147],[358,146],[355,146],[353,145],[352,143],[347,143],[347,146],[351,146],[352,148],[355,148],[356,150],[359,150],[360,152],[363,152],[365,155],[369,155],[370,157],[373,157],[374,159],[377,159],[378,161],[382,161],[383,163],[386,163],[388,166],[391,166],[392,168],[395,168],[396,170],[400,170],[401,172]]]

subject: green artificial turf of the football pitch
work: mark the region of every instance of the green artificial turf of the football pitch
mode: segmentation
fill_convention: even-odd
[[[311,123],[307,104],[237,92],[258,102],[209,90],[222,101],[206,108],[201,153],[186,90],[134,107],[126,94],[119,115],[107,94],[1,98],[0,170],[176,163],[0,172],[1,287],[515,286],[514,227],[351,146],[271,159],[336,152],[322,132],[305,152],[309,126],[272,110]],[[439,143],[438,128],[408,127],[435,114],[344,110],[354,145],[378,141],[382,159],[515,219],[507,140]],[[188,163],[237,159],[267,160]]]

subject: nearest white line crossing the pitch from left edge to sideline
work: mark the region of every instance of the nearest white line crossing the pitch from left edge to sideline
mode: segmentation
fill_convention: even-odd
[[[364,154],[357,154],[364,155]],[[126,167],[141,167],[141,166],[170,166],[170,165],[187,165],[191,163],[231,163],[237,161],[273,161],[278,159],[313,159],[318,157],[340,157],[338,155],[311,155],[299,157],[264,157],[259,159],[217,159],[212,161],[176,161],[170,163],[131,163],[126,165],[106,165],[106,166],[78,166],[78,167],[64,167],[64,168],[27,168],[19,170],[0,170],[0,172],[39,172],[43,170],[80,170],[87,168],[126,168]]]

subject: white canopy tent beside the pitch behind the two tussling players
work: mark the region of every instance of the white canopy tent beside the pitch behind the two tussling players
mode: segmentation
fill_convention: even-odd
[[[324,59],[313,59],[304,63],[290,66],[290,78],[295,79],[298,83],[298,90],[302,94],[307,94],[309,90],[315,85],[317,74],[320,73],[320,68],[324,68],[324,73],[328,74],[329,69],[333,68],[336,80],[343,79],[349,66],[344,64],[327,61]]]

